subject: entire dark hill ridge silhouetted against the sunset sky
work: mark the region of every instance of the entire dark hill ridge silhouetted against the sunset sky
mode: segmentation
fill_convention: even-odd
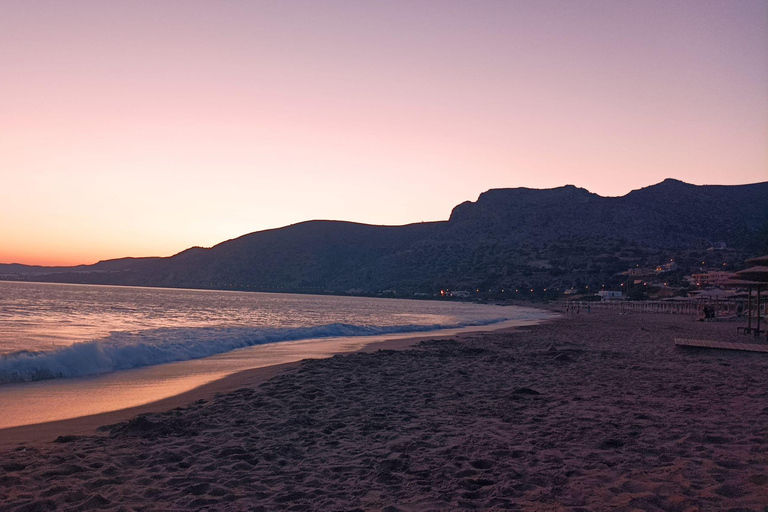
[[[713,246],[718,249],[708,250]],[[0,278],[410,295],[443,288],[498,292],[604,284],[617,282],[616,274],[627,268],[669,259],[685,271],[733,269],[764,252],[768,182],[696,186],[668,179],[622,197],[572,185],[495,189],[456,206],[442,222],[308,221],[168,258],[77,267],[0,265]]]

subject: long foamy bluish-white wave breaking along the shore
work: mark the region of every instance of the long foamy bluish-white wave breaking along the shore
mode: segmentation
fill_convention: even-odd
[[[453,325],[369,326],[337,323],[295,328],[201,327],[113,332],[105,338],[51,351],[21,351],[2,355],[0,384],[83,377],[188,361],[280,341],[436,331],[490,325],[505,320],[499,318]]]

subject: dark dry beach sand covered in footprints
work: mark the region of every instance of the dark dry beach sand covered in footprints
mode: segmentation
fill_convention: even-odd
[[[735,330],[600,311],[239,375],[5,448],[0,510],[764,511],[768,356],[673,346]]]

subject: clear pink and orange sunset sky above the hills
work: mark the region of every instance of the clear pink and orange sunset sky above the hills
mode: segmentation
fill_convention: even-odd
[[[0,263],[768,181],[768,2],[0,0]]]

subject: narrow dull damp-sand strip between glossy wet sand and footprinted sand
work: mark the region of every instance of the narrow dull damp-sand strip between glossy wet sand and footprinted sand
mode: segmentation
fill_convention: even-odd
[[[552,312],[551,309],[546,309],[546,311]],[[558,319],[560,319],[560,317],[553,317],[551,319],[536,320],[531,322],[536,322],[534,325],[543,325],[548,322],[557,321]],[[359,350],[342,351],[322,359],[328,359],[334,355],[371,353],[376,352],[377,350],[404,350],[427,340],[459,338],[462,336],[471,336],[478,333],[489,332],[505,333],[514,331],[520,327],[526,326],[501,326],[494,329],[493,324],[491,324],[467,327],[464,329],[468,330],[455,334],[444,334],[442,331],[435,331],[435,334],[433,335],[425,333],[408,337],[389,338],[366,344]],[[21,445],[28,447],[40,446],[53,442],[59,436],[98,435],[98,429],[100,427],[128,421],[135,418],[136,416],[167,412],[172,409],[188,406],[200,400],[210,401],[218,394],[232,392],[241,388],[256,388],[273,377],[295,370],[301,366],[302,361],[306,360],[308,359],[301,359],[298,361],[238,371],[236,373],[217,378],[177,395],[162,398],[160,400],[155,400],[153,402],[134,407],[78,416],[75,418],[63,420],[2,428],[0,429],[0,450],[13,449]]]

